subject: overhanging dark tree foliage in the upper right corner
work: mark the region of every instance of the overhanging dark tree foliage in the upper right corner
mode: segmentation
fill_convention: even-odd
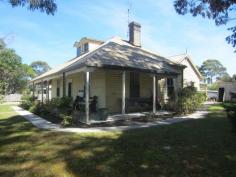
[[[187,13],[203,18],[213,19],[217,26],[225,25],[236,20],[236,0],[175,0],[174,7],[178,14]],[[236,26],[228,28],[232,34],[226,37],[226,41],[236,47]],[[236,50],[235,50],[236,52]]]

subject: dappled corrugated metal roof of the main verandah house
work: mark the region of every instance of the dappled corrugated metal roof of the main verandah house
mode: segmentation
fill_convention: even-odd
[[[162,74],[180,74],[179,68],[185,67],[153,52],[135,47],[119,37],[114,37],[100,45],[97,49],[73,58],[32,81],[84,66],[130,68]]]

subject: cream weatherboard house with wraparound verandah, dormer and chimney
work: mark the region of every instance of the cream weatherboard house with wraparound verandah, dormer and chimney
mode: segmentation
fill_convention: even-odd
[[[75,42],[75,58],[31,80],[33,88],[39,88],[38,99],[72,97],[85,123],[101,110],[109,115],[156,113],[175,100],[185,66],[142,48],[140,24],[130,23],[129,31],[128,41],[114,37]]]

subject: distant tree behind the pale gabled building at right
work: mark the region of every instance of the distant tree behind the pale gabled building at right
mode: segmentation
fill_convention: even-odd
[[[226,68],[218,60],[206,60],[201,65],[199,71],[208,80],[209,84],[213,83],[213,79],[220,79],[228,75]]]

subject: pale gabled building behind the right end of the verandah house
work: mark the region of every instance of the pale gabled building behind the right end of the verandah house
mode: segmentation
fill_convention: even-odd
[[[186,66],[184,69],[184,86],[193,85],[198,91],[201,90],[200,85],[203,80],[203,76],[197,69],[193,60],[188,54],[180,54],[169,57],[170,60]]]

